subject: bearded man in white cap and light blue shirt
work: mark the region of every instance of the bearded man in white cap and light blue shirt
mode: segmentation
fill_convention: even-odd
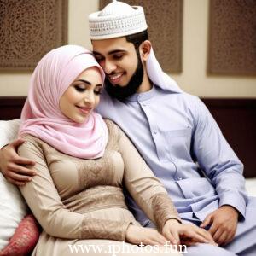
[[[180,217],[209,230],[221,246],[200,244],[188,255],[255,255],[256,199],[247,198],[243,166],[198,97],[162,72],[143,9],[114,1],[89,22],[94,54],[107,75],[98,112],[131,138]],[[32,175],[17,164],[33,164],[15,153],[20,143],[0,154],[3,174],[17,184]],[[153,226],[129,196],[127,201],[138,221]]]

